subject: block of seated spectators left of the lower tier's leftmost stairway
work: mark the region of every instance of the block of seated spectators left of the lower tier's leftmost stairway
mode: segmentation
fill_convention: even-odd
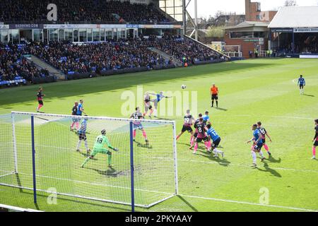
[[[37,69],[33,62],[28,61],[25,54],[30,49],[28,46],[20,44],[0,43],[0,82],[4,81],[32,81],[33,78],[43,78],[48,76],[46,70]]]

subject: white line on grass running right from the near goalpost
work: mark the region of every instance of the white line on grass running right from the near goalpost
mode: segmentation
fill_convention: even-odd
[[[271,207],[271,208],[281,208],[281,209],[288,209],[288,210],[300,210],[305,212],[318,212],[318,210],[310,210],[305,208],[297,208],[297,207],[290,207],[290,206],[276,206],[276,205],[270,205],[270,204],[261,204],[261,203],[250,203],[246,201],[234,201],[234,200],[228,200],[228,199],[221,199],[221,198],[207,198],[207,197],[201,197],[201,196],[188,196],[179,194],[179,196],[187,197],[187,198],[198,198],[198,199],[205,199],[210,201],[219,201],[223,203],[237,203],[237,204],[245,204],[245,205],[251,205],[251,206],[262,206],[262,207]]]

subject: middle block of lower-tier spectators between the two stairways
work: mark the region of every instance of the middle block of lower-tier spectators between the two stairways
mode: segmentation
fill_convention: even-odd
[[[139,40],[102,43],[50,42],[31,47],[31,53],[64,73],[87,73],[166,64],[163,57]]]

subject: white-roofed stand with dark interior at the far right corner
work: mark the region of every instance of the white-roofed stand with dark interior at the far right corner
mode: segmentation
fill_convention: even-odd
[[[282,7],[269,24],[279,55],[318,58],[318,7]]]

